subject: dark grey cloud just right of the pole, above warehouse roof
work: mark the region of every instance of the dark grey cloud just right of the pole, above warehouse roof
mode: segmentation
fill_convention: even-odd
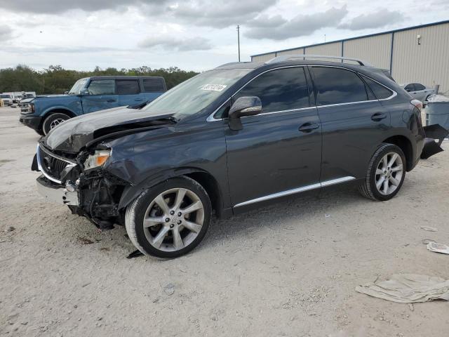
[[[296,15],[286,20],[280,15],[271,18],[260,16],[247,23],[245,33],[251,39],[283,40],[291,37],[303,37],[324,27],[337,27],[348,13],[346,5],[342,8],[330,8],[328,11],[309,15]]]

